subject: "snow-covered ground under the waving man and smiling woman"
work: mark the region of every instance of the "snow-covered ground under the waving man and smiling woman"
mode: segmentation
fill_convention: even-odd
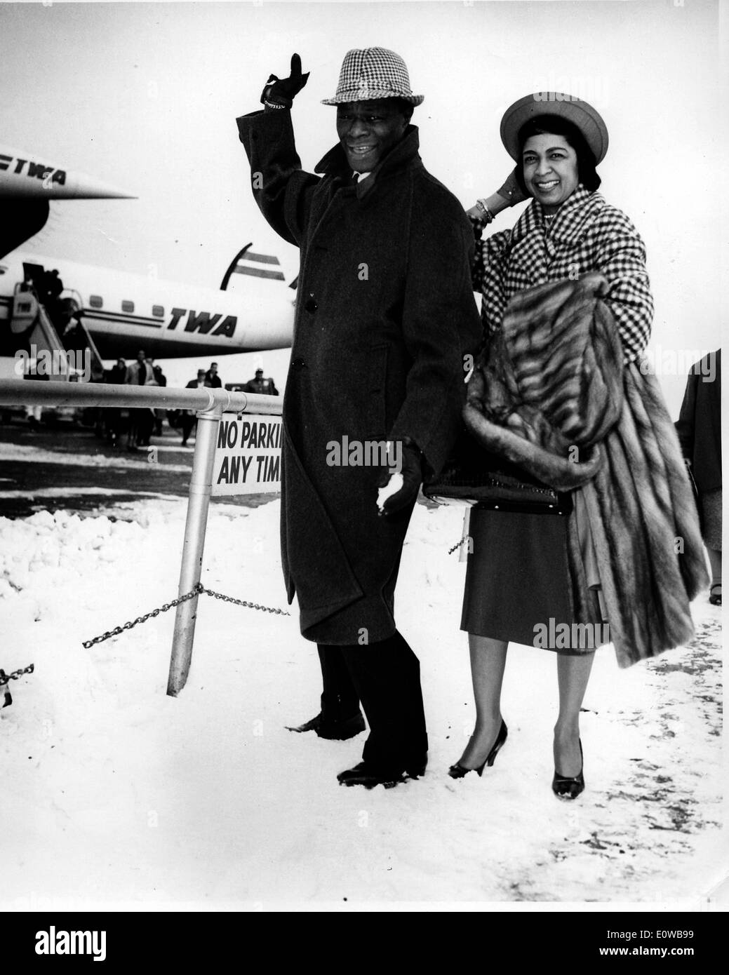
[[[726,878],[720,611],[706,596],[690,646],[627,671],[598,651],[579,800],[549,788],[555,659],[533,647],[509,650],[495,765],[453,781],[473,723],[465,566],[447,555],[462,518],[418,505],[397,611],[422,660],[427,774],[346,789],[335,776],[363,735],[284,728],[316,712],[319,692],[295,614],[201,597],[177,699],[165,694],[173,611],[84,649],[177,595],[185,502],[104,510],[0,519],[0,666],[35,664],[0,711],[3,907],[695,908]],[[278,512],[214,504],[204,585],[287,608]]]

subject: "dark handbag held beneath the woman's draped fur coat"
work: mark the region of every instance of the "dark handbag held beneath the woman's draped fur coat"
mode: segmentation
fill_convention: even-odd
[[[495,511],[568,515],[569,492],[547,487],[508,461],[489,453],[461,431],[437,477],[426,478],[425,497],[438,504],[476,505]]]

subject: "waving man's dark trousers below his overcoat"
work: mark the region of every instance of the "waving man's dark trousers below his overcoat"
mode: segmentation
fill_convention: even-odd
[[[361,701],[370,725],[363,760],[395,774],[425,767],[421,665],[401,634],[395,631],[380,643],[318,648],[324,680],[322,715],[351,718]]]

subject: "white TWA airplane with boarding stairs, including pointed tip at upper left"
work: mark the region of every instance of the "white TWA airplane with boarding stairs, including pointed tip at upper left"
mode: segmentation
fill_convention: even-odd
[[[220,290],[127,274],[54,256],[25,254],[21,244],[45,225],[50,200],[133,199],[131,194],[0,146],[0,355],[14,354],[34,319],[28,285],[58,271],[57,307],[80,321],[102,359],[134,357],[139,349],[163,359],[222,356],[288,348],[296,281],[288,287],[277,257],[247,245],[235,256]],[[245,290],[227,291],[232,275]]]

